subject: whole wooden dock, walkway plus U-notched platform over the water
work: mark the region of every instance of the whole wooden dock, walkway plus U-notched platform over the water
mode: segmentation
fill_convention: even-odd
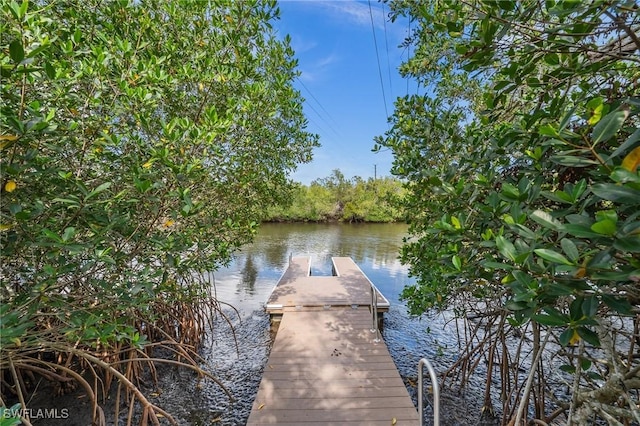
[[[348,257],[334,276],[292,258],[266,309],[280,321],[248,425],[417,425],[418,414],[384,340],[372,301],[389,302]],[[375,290],[372,298],[371,288]]]

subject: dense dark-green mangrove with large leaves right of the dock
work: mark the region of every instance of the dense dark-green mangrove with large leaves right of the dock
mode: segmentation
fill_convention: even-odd
[[[407,180],[411,310],[474,318],[449,373],[484,360],[485,414],[500,374],[505,423],[640,422],[640,6],[390,3],[428,89],[378,139]]]

